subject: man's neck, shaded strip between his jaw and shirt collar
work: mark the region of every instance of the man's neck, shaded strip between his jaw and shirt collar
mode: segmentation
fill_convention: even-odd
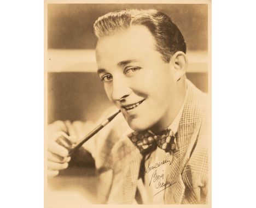
[[[167,129],[173,123],[179,111],[181,111],[187,91],[187,84],[185,84],[185,80],[181,80],[181,82],[184,82],[184,85],[179,86],[176,95],[174,95],[175,100],[172,99],[172,101],[170,101],[172,105],[170,104],[170,108],[165,112],[164,117],[156,125],[150,128],[150,130],[155,134]]]

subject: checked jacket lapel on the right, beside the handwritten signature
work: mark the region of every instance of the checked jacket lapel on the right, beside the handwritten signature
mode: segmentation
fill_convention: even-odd
[[[178,150],[173,155],[173,161],[168,172],[170,183],[173,185],[165,190],[165,204],[182,204],[185,192],[182,172],[189,160],[190,152],[196,143],[201,126],[201,107],[200,102],[198,102],[201,91],[197,91],[197,88],[190,81],[187,83],[187,97],[176,134]]]

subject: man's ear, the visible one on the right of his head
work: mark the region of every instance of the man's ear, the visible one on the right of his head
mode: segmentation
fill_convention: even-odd
[[[188,68],[188,58],[185,53],[178,51],[171,58],[172,66],[174,66],[174,78],[179,81]]]

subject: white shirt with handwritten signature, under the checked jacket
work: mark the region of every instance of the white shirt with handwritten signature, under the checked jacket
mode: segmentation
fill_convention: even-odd
[[[169,126],[173,131],[173,134],[176,134],[178,130],[183,108],[184,104],[172,124]],[[141,194],[143,204],[164,204],[165,187],[161,185],[166,182],[166,173],[168,173],[168,168],[170,168],[172,157],[172,154],[157,147],[147,158],[145,162],[146,174],[144,176],[144,184],[142,179],[139,179],[137,183],[137,188]],[[156,163],[158,164],[156,165]],[[137,202],[135,202],[135,204],[136,203]]]

